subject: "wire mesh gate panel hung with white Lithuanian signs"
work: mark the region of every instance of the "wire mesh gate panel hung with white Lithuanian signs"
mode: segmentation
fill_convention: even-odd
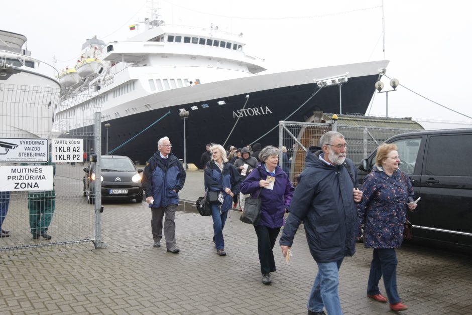
[[[101,102],[75,106],[99,97],[61,99],[59,89],[0,84],[0,251],[101,243],[100,205],[83,197],[83,168],[99,153]]]

